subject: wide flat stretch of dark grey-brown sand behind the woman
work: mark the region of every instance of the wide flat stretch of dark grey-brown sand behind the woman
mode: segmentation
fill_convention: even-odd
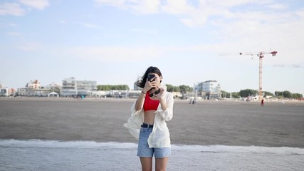
[[[0,139],[137,142],[123,127],[135,99],[0,98]],[[304,147],[303,102],[175,100],[172,144]]]

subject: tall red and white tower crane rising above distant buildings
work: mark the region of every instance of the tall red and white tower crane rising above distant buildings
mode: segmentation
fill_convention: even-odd
[[[241,56],[253,56],[256,54],[259,58],[259,66],[258,66],[258,99],[261,100],[263,98],[262,95],[262,68],[263,68],[263,58],[264,55],[271,54],[271,56],[276,56],[277,51],[261,51],[258,53],[253,52],[239,52],[238,54]],[[234,53],[235,55],[236,53]],[[231,53],[221,53],[221,55],[231,55]],[[233,54],[232,54],[233,55]]]

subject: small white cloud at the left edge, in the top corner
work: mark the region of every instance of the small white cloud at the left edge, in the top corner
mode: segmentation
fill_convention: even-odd
[[[23,16],[25,10],[21,8],[19,4],[16,3],[4,3],[0,4],[0,16],[13,15],[13,16]]]

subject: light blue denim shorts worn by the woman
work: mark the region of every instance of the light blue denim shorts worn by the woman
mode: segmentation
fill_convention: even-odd
[[[137,156],[164,158],[171,155],[170,147],[152,147],[148,145],[148,138],[153,128],[140,128],[140,139],[138,140]]]

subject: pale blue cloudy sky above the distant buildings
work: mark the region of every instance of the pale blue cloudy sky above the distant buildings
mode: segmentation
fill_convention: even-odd
[[[302,0],[1,0],[0,83],[132,89],[157,66],[164,84],[258,90],[263,52],[263,90],[304,95],[303,28]]]

